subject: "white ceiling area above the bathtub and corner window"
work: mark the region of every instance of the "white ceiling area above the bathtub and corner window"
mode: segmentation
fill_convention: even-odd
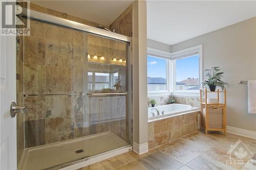
[[[256,1],[147,1],[147,38],[176,44],[256,16]]]

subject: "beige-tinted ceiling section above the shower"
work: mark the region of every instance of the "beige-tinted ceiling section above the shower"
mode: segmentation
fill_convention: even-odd
[[[133,1],[32,1],[56,11],[109,26]]]

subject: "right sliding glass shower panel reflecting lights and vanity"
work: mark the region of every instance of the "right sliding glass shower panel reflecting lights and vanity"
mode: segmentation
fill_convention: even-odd
[[[128,44],[87,33],[84,69],[90,156],[130,144]],[[96,129],[96,130],[95,130]],[[102,142],[103,141],[103,142]]]

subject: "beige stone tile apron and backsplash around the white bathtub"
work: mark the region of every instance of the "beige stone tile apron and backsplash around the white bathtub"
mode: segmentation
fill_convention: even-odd
[[[166,105],[170,98],[176,99],[176,103],[199,107],[199,98],[186,96],[161,96],[147,98],[148,107],[151,107],[150,101],[156,100],[156,105]],[[169,141],[175,140],[189,133],[197,131],[197,114],[194,112],[155,122],[148,123],[148,148],[153,149]],[[156,130],[155,130],[156,128]]]

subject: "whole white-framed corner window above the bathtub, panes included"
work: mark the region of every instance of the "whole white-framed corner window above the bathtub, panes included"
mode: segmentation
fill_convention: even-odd
[[[147,48],[148,96],[199,95],[202,80],[202,45],[174,53]]]

